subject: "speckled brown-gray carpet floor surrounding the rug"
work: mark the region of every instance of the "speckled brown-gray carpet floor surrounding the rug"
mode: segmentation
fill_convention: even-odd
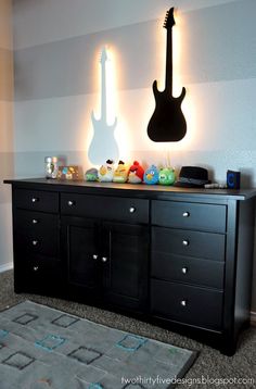
[[[77,315],[112,328],[137,334],[141,337],[155,339],[189,350],[200,351],[194,364],[187,372],[184,378],[182,378],[182,384],[177,386],[178,389],[202,389],[207,387],[218,387],[225,389],[255,389],[256,387],[256,327],[254,326],[241,334],[235,354],[233,356],[226,356],[218,350],[215,350],[196,340],[132,317],[101,310],[95,306],[89,306],[74,301],[47,296],[36,296],[29,293],[16,294],[13,290],[13,271],[0,273],[0,311],[25,300],[30,300],[42,305],[62,310],[71,315]],[[234,384],[234,377],[242,379],[243,382],[240,382],[239,385]],[[210,381],[208,386],[202,385],[202,382],[197,381],[201,378],[208,378],[210,380],[215,380],[215,382]],[[220,380],[226,381],[225,384],[220,384]],[[16,389],[24,388],[20,387]],[[49,389],[49,387],[44,386],[44,389]]]

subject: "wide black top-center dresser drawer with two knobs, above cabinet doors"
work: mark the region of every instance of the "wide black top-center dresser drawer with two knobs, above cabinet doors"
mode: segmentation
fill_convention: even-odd
[[[148,223],[149,200],[62,193],[61,212],[90,218]]]

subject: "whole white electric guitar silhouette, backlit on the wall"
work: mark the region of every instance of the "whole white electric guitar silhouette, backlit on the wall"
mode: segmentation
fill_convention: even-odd
[[[91,113],[91,121],[93,126],[93,138],[91,140],[88,155],[93,164],[102,164],[104,161],[111,159],[118,160],[118,146],[114,137],[114,130],[117,125],[117,118],[114,123],[108,125],[106,122],[106,68],[107,61],[106,50],[102,49],[101,53],[101,117],[95,118],[94,113]]]

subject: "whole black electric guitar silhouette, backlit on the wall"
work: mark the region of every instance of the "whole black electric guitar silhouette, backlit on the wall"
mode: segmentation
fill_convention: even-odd
[[[153,83],[155,111],[148,126],[148,135],[155,142],[181,140],[187,133],[187,123],[181,111],[185,88],[179,97],[172,96],[172,26],[175,25],[174,8],[166,13],[164,27],[167,29],[165,90],[157,89]]]

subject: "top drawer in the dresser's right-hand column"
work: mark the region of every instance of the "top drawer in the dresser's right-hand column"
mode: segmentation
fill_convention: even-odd
[[[154,200],[152,201],[152,224],[225,233],[226,205]]]

